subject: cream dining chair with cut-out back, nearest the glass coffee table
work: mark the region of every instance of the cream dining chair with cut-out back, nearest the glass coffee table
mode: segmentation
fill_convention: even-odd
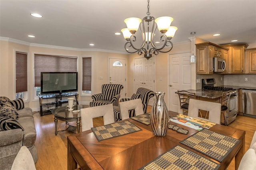
[[[102,105],[80,109],[82,131],[87,131],[93,127],[92,119],[103,116],[104,125],[114,123],[113,105]]]

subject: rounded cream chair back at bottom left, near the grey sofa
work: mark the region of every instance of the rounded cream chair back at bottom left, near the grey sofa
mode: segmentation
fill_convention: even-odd
[[[36,170],[33,157],[26,146],[20,148],[11,170]]]

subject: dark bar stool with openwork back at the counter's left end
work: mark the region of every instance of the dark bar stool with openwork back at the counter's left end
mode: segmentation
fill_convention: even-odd
[[[184,115],[188,115],[188,104],[190,99],[196,99],[196,93],[188,92],[186,90],[178,90],[178,95],[180,99],[180,109]]]

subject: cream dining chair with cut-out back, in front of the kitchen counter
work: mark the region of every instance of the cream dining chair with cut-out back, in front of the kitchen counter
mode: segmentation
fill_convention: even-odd
[[[188,116],[220,124],[220,108],[220,103],[190,99],[188,106]],[[200,110],[208,111],[209,118],[205,119],[202,117],[198,117],[198,113]]]

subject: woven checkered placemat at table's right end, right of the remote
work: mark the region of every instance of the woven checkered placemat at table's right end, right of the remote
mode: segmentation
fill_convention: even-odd
[[[180,143],[222,162],[240,140],[203,129]]]

